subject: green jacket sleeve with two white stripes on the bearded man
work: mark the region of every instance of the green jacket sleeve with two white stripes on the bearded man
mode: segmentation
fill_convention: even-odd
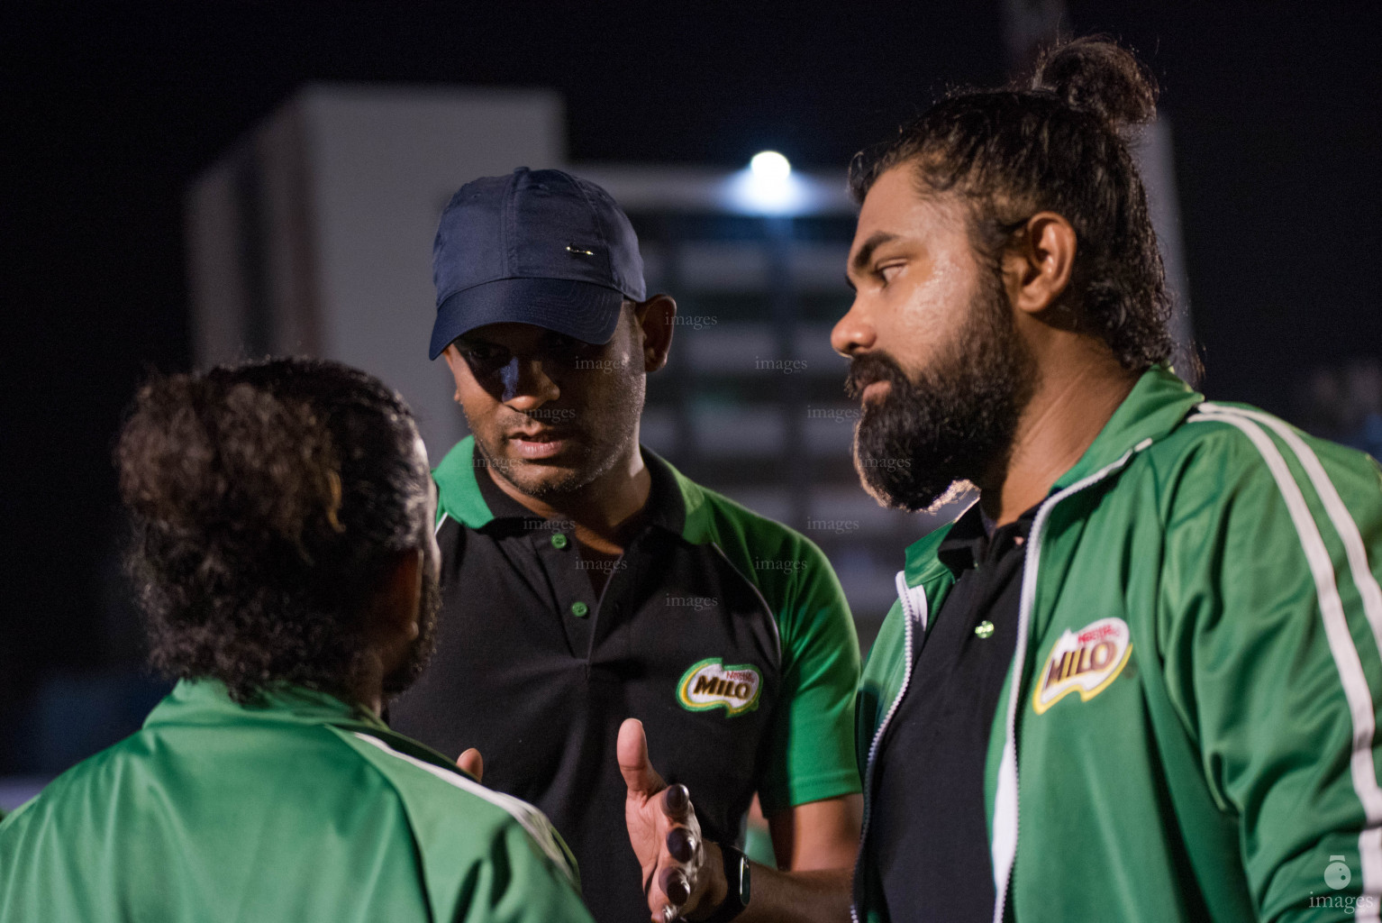
[[[1266,424],[1222,426],[1179,475],[1165,536],[1166,689],[1213,803],[1238,826],[1258,919],[1347,919],[1368,902],[1375,913],[1382,882],[1364,893],[1382,870],[1374,463]]]

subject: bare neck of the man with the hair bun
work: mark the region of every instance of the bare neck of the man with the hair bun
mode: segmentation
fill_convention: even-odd
[[[1046,497],[1137,383],[1136,372],[1085,337],[1063,352],[1042,363],[1006,463],[978,485],[984,513],[996,525],[1016,522]]]

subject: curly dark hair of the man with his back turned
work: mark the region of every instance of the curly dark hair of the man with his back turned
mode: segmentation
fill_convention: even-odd
[[[336,362],[141,387],[115,456],[152,665],[221,680],[239,702],[278,683],[352,695],[362,604],[398,551],[426,543],[416,444],[402,398]]]

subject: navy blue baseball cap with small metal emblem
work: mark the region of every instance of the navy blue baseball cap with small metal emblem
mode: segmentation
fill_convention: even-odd
[[[467,182],[433,245],[430,358],[486,323],[532,323],[608,343],[625,298],[645,300],[638,236],[609,193],[561,170]]]

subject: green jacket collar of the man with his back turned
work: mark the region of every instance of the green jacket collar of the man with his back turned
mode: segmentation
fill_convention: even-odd
[[[178,680],[173,691],[149,712],[145,728],[163,724],[232,724],[281,721],[286,724],[357,724],[377,731],[387,725],[368,709],[303,685],[281,684],[249,705],[235,702],[220,680]]]

